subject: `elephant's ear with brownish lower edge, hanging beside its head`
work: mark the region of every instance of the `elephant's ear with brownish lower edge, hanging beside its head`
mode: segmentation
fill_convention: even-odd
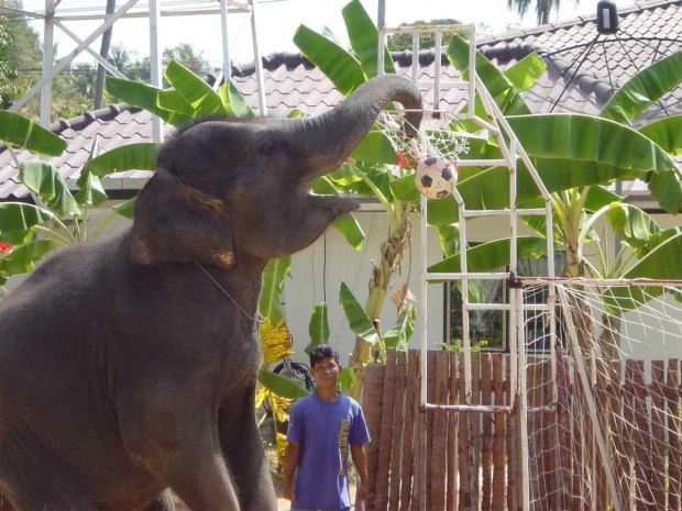
[[[206,263],[230,268],[232,222],[224,202],[158,170],[135,204],[130,258],[139,265]]]

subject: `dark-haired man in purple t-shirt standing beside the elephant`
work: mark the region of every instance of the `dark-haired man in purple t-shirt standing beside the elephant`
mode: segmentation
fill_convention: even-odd
[[[333,347],[323,344],[312,349],[310,373],[317,388],[292,408],[284,457],[284,497],[292,501],[293,511],[351,509],[349,447],[358,470],[355,502],[364,503],[367,496],[364,445],[370,434],[360,404],[337,391],[340,371]]]

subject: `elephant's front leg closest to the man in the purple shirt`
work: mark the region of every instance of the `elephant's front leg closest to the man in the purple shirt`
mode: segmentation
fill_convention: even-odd
[[[254,410],[255,387],[219,411],[220,443],[243,511],[276,511],[273,486]]]

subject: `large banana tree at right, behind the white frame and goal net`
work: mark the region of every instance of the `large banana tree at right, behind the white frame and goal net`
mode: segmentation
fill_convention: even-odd
[[[451,62],[464,73],[465,51],[468,49],[462,41],[454,41],[448,49]],[[661,231],[644,211],[622,203],[622,198],[606,192],[601,186],[606,182],[640,178],[648,182],[652,197],[658,200],[662,209],[671,214],[680,211],[682,205],[680,168],[673,156],[682,153],[682,137],[679,134],[682,116],[666,118],[638,131],[629,126],[668,89],[682,81],[681,66],[682,53],[678,52],[637,74],[613,96],[600,118],[579,115],[507,118],[551,192],[554,238],[566,254],[566,276],[682,278],[680,259],[682,230],[674,227]],[[481,76],[486,84],[501,79],[499,73],[494,68],[487,68]],[[518,108],[522,99],[518,95],[514,95],[514,98]],[[504,108],[505,104],[502,103],[503,111]],[[529,136],[536,133],[546,133],[548,136]],[[481,151],[499,156],[498,148],[490,141]],[[644,154],[642,151],[647,153]],[[487,207],[507,207],[508,184],[504,182],[501,170],[503,169],[469,169],[471,177],[463,179],[459,188],[476,189],[479,197],[485,198]],[[505,193],[505,197],[502,193]],[[537,198],[537,187],[530,182],[527,169],[519,168],[521,205],[524,202],[532,203],[538,200]],[[607,260],[604,246],[607,237],[600,238],[593,230],[600,219],[605,219],[612,231],[622,237],[622,246],[617,247],[612,260]],[[436,222],[438,220],[436,219]],[[537,218],[524,220],[538,232],[539,236],[544,234],[542,221],[538,221]],[[592,264],[583,255],[586,243],[593,243],[596,248],[596,264]],[[496,245],[497,242],[493,242],[476,249],[492,251]],[[432,270],[454,270],[453,268],[459,266],[458,258],[459,254],[439,263]],[[476,260],[485,258],[477,256]],[[505,260],[496,260],[495,264],[496,266],[487,266],[482,270],[492,270],[494,267],[508,264],[508,257]],[[609,313],[605,314],[602,321],[613,325],[617,314],[661,295],[663,288],[647,288],[646,291],[640,288],[627,291],[623,288],[608,290],[606,302],[609,304]],[[680,298],[680,293],[674,295]],[[606,338],[612,330],[605,329],[605,334],[602,336],[602,348],[608,356],[615,355],[615,340]]]

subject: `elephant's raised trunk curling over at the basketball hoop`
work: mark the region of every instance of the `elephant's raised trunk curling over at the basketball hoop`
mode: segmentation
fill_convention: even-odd
[[[337,169],[374,125],[382,108],[398,101],[408,111],[405,133],[416,134],[421,122],[421,95],[407,78],[383,75],[361,85],[333,110],[301,120],[306,145],[318,176]],[[316,176],[317,177],[317,176]]]

